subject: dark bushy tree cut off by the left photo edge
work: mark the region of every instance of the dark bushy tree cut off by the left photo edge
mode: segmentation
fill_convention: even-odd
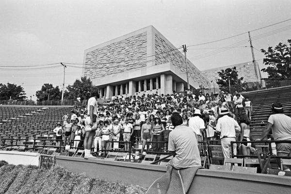
[[[0,83],[0,100],[13,100],[23,101],[26,98],[26,93],[23,87],[14,83],[7,83],[7,85]]]

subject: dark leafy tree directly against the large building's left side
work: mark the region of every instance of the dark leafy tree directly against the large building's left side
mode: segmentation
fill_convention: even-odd
[[[78,96],[81,97],[81,99],[88,99],[92,87],[94,86],[90,78],[84,76],[81,77],[81,80],[77,79],[73,85],[68,85],[64,96],[66,99],[76,99]]]

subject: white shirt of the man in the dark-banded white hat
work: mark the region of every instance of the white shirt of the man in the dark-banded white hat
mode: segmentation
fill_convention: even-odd
[[[236,120],[224,115],[218,119],[216,131],[220,132],[220,139],[223,137],[235,137],[235,131],[241,131],[241,127]]]

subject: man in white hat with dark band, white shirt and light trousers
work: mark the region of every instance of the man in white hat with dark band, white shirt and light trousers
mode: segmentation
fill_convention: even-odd
[[[229,116],[229,111],[226,108],[221,108],[221,116],[216,124],[216,131],[220,133],[220,141],[222,152],[225,158],[230,158],[230,142],[236,141],[235,132],[241,131],[241,128],[236,120]],[[237,145],[233,144],[233,154],[237,153]]]

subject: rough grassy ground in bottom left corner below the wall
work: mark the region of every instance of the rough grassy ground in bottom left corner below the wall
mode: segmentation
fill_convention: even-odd
[[[55,166],[12,165],[0,161],[0,194],[145,194],[139,186],[107,182]]]

